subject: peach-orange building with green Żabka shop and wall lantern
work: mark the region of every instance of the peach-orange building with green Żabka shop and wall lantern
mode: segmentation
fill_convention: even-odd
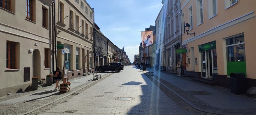
[[[180,0],[187,52],[186,74],[218,80],[230,87],[230,73],[244,73],[247,89],[255,86],[255,0]],[[185,28],[184,28],[185,29]],[[186,30],[186,29],[185,29]],[[195,33],[194,33],[195,32]]]

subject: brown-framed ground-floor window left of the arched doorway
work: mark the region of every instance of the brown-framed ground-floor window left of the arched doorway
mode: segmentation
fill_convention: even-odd
[[[17,69],[16,60],[17,60],[17,43],[15,42],[6,42],[6,69]]]

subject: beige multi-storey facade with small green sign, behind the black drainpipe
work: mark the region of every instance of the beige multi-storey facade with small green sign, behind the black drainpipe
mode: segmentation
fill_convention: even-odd
[[[55,0],[57,66],[69,62],[69,78],[94,71],[94,10],[85,0]]]

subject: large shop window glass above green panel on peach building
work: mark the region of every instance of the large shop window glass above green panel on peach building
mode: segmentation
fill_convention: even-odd
[[[245,61],[244,35],[226,39],[227,61]]]

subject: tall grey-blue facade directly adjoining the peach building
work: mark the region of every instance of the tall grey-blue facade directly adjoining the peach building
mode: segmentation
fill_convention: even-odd
[[[164,24],[164,59],[165,70],[177,71],[177,64],[181,62],[181,54],[176,54],[176,50],[180,49],[180,1],[179,0],[163,0],[162,18]],[[184,63],[186,66],[186,63]],[[179,68],[179,67],[178,67]],[[180,71],[177,71],[180,73]]]

